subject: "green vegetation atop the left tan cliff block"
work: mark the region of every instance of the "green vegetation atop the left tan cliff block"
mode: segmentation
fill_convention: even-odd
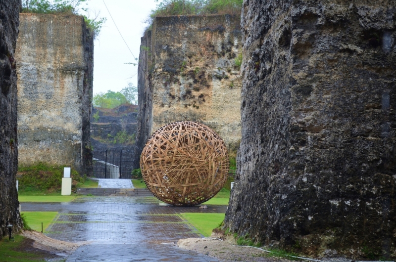
[[[80,15],[80,9],[88,12],[87,8],[80,8],[80,5],[88,0],[23,0],[22,13],[39,13],[39,14],[75,14]],[[91,19],[85,15],[84,20],[93,37],[97,38],[100,29],[106,22],[105,17],[99,18],[98,15]]]

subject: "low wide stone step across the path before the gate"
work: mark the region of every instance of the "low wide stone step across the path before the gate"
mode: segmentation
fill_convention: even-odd
[[[153,196],[147,188],[78,188],[78,195]]]

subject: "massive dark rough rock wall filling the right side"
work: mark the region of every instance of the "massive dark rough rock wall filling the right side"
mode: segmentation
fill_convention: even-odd
[[[305,254],[396,256],[395,11],[245,1],[231,231]]]

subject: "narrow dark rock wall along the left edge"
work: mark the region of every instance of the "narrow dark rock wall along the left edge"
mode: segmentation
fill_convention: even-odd
[[[15,44],[18,36],[19,1],[0,2],[0,238],[8,234],[7,221],[18,231],[16,171],[18,169],[17,89]]]

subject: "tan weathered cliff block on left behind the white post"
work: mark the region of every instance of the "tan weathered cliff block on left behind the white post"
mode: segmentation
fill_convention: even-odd
[[[19,163],[72,165],[92,174],[92,34],[75,15],[20,14]]]

